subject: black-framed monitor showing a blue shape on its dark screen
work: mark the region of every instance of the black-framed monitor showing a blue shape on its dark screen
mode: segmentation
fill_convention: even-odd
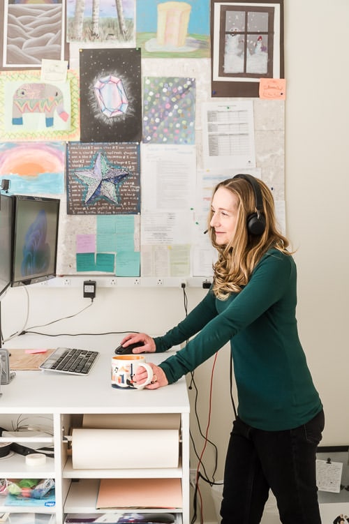
[[[11,284],[56,276],[60,200],[14,195]]]

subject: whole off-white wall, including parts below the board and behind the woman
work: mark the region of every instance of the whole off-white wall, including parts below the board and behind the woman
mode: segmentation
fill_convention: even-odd
[[[285,187],[288,236],[297,248],[298,321],[304,350],[327,415],[323,444],[348,444],[348,0],[285,0]],[[203,297],[188,288],[189,309]],[[31,287],[28,325],[71,315],[89,304],[82,287]],[[5,336],[22,327],[27,311],[23,289],[3,300]],[[74,319],[50,327],[66,331],[136,329],[161,334],[184,317],[181,289],[97,290],[93,306]],[[115,343],[121,337],[115,337]],[[54,340],[54,339],[53,339]],[[112,348],[111,348],[112,349]],[[212,393],[209,438],[218,445],[223,474],[232,423],[228,394],[229,354],[218,352]],[[213,359],[195,371],[198,412],[205,433]],[[191,395],[191,423],[198,452]],[[211,474],[214,454],[205,453]],[[192,465],[195,456],[192,452]],[[215,522],[214,505],[202,486],[205,522]]]

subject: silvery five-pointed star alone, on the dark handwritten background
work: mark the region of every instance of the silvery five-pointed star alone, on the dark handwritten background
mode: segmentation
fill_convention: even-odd
[[[122,167],[108,164],[107,158],[101,153],[97,154],[92,169],[75,171],[75,175],[87,186],[85,204],[89,204],[98,197],[105,197],[114,204],[118,204],[117,186],[128,174],[128,171]]]

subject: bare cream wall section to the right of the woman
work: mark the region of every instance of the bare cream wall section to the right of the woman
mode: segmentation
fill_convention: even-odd
[[[348,444],[349,4],[285,4],[285,186],[299,331],[325,405],[323,442]]]

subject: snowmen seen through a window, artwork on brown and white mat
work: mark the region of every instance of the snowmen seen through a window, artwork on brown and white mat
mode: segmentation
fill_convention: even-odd
[[[283,3],[211,0],[212,96],[258,96],[283,77]]]

